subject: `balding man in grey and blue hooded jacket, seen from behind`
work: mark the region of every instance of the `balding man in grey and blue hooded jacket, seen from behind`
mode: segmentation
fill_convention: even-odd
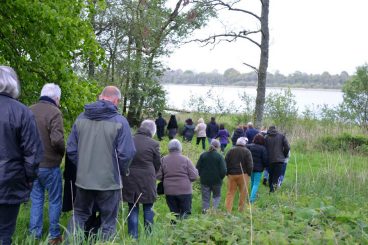
[[[74,225],[84,229],[96,203],[103,239],[115,235],[121,175],[135,154],[128,121],[117,110],[119,100],[117,87],[105,87],[97,102],[84,107],[70,133],[67,153],[77,166],[77,195],[69,234],[73,234]]]

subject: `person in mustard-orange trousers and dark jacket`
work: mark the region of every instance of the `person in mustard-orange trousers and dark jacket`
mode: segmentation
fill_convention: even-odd
[[[248,197],[249,177],[252,175],[253,159],[251,152],[245,147],[247,138],[240,137],[236,141],[236,146],[231,148],[226,156],[227,168],[227,194],[225,207],[228,212],[233,208],[234,196],[237,189],[239,195],[239,211],[243,211],[245,200]]]

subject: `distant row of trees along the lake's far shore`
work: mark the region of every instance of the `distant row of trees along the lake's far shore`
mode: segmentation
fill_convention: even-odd
[[[341,89],[349,78],[350,76],[346,71],[341,72],[339,75],[331,75],[328,72],[307,74],[296,71],[288,76],[275,72],[267,74],[267,86]],[[163,84],[257,86],[257,74],[255,72],[240,73],[234,68],[225,70],[223,74],[216,70],[210,73],[196,73],[190,70],[167,70],[160,78],[160,81]]]

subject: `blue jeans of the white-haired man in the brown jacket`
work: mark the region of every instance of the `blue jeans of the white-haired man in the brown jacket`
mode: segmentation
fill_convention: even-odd
[[[59,167],[39,168],[38,178],[33,182],[31,192],[31,218],[29,230],[32,235],[40,239],[42,237],[43,206],[45,201],[45,190],[49,196],[49,238],[61,236],[59,218],[62,205],[62,180]]]

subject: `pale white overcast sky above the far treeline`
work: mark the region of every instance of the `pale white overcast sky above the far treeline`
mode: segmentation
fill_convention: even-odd
[[[260,15],[259,2],[241,0],[240,4]],[[354,74],[357,66],[368,63],[367,10],[368,0],[270,0],[268,71]],[[211,21],[191,38],[220,33],[225,27],[236,30],[239,25],[259,26],[254,18],[226,11],[221,23]],[[251,72],[243,63],[258,67],[259,48],[245,40],[216,47],[190,43],[175,49],[164,62],[173,70]]]

